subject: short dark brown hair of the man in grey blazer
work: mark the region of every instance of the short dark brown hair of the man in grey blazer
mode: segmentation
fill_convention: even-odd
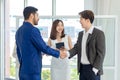
[[[89,19],[91,23],[94,21],[94,13],[91,10],[84,10],[82,12],[79,12],[79,15],[82,18]]]

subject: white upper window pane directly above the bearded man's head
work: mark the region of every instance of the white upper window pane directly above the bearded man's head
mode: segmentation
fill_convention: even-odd
[[[28,0],[27,5],[38,8],[40,15],[52,15],[52,0]]]

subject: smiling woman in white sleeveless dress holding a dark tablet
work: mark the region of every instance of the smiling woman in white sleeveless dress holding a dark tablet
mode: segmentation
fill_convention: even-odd
[[[69,50],[72,48],[71,38],[64,33],[64,24],[62,20],[55,20],[52,24],[48,45],[54,49],[60,46]],[[51,61],[51,80],[70,80],[69,59],[60,59],[52,57]]]

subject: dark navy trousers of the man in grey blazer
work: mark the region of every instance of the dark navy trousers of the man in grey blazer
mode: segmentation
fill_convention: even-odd
[[[80,65],[79,80],[100,80],[100,75],[96,75],[92,70],[92,65]]]

